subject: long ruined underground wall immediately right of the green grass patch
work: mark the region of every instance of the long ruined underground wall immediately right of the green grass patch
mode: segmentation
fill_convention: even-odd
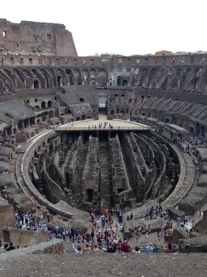
[[[132,188],[129,184],[127,170],[117,134],[116,137],[109,138],[109,155],[114,201],[116,204],[121,204],[123,199],[127,200]]]

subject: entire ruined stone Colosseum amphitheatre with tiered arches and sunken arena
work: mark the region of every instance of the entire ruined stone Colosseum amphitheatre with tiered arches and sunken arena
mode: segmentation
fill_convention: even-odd
[[[79,57],[63,24],[1,18],[0,92],[2,267],[10,242],[24,266],[76,263],[74,239],[123,265],[137,263],[123,241],[142,266],[149,242],[172,245],[166,262],[207,271],[207,54]]]

